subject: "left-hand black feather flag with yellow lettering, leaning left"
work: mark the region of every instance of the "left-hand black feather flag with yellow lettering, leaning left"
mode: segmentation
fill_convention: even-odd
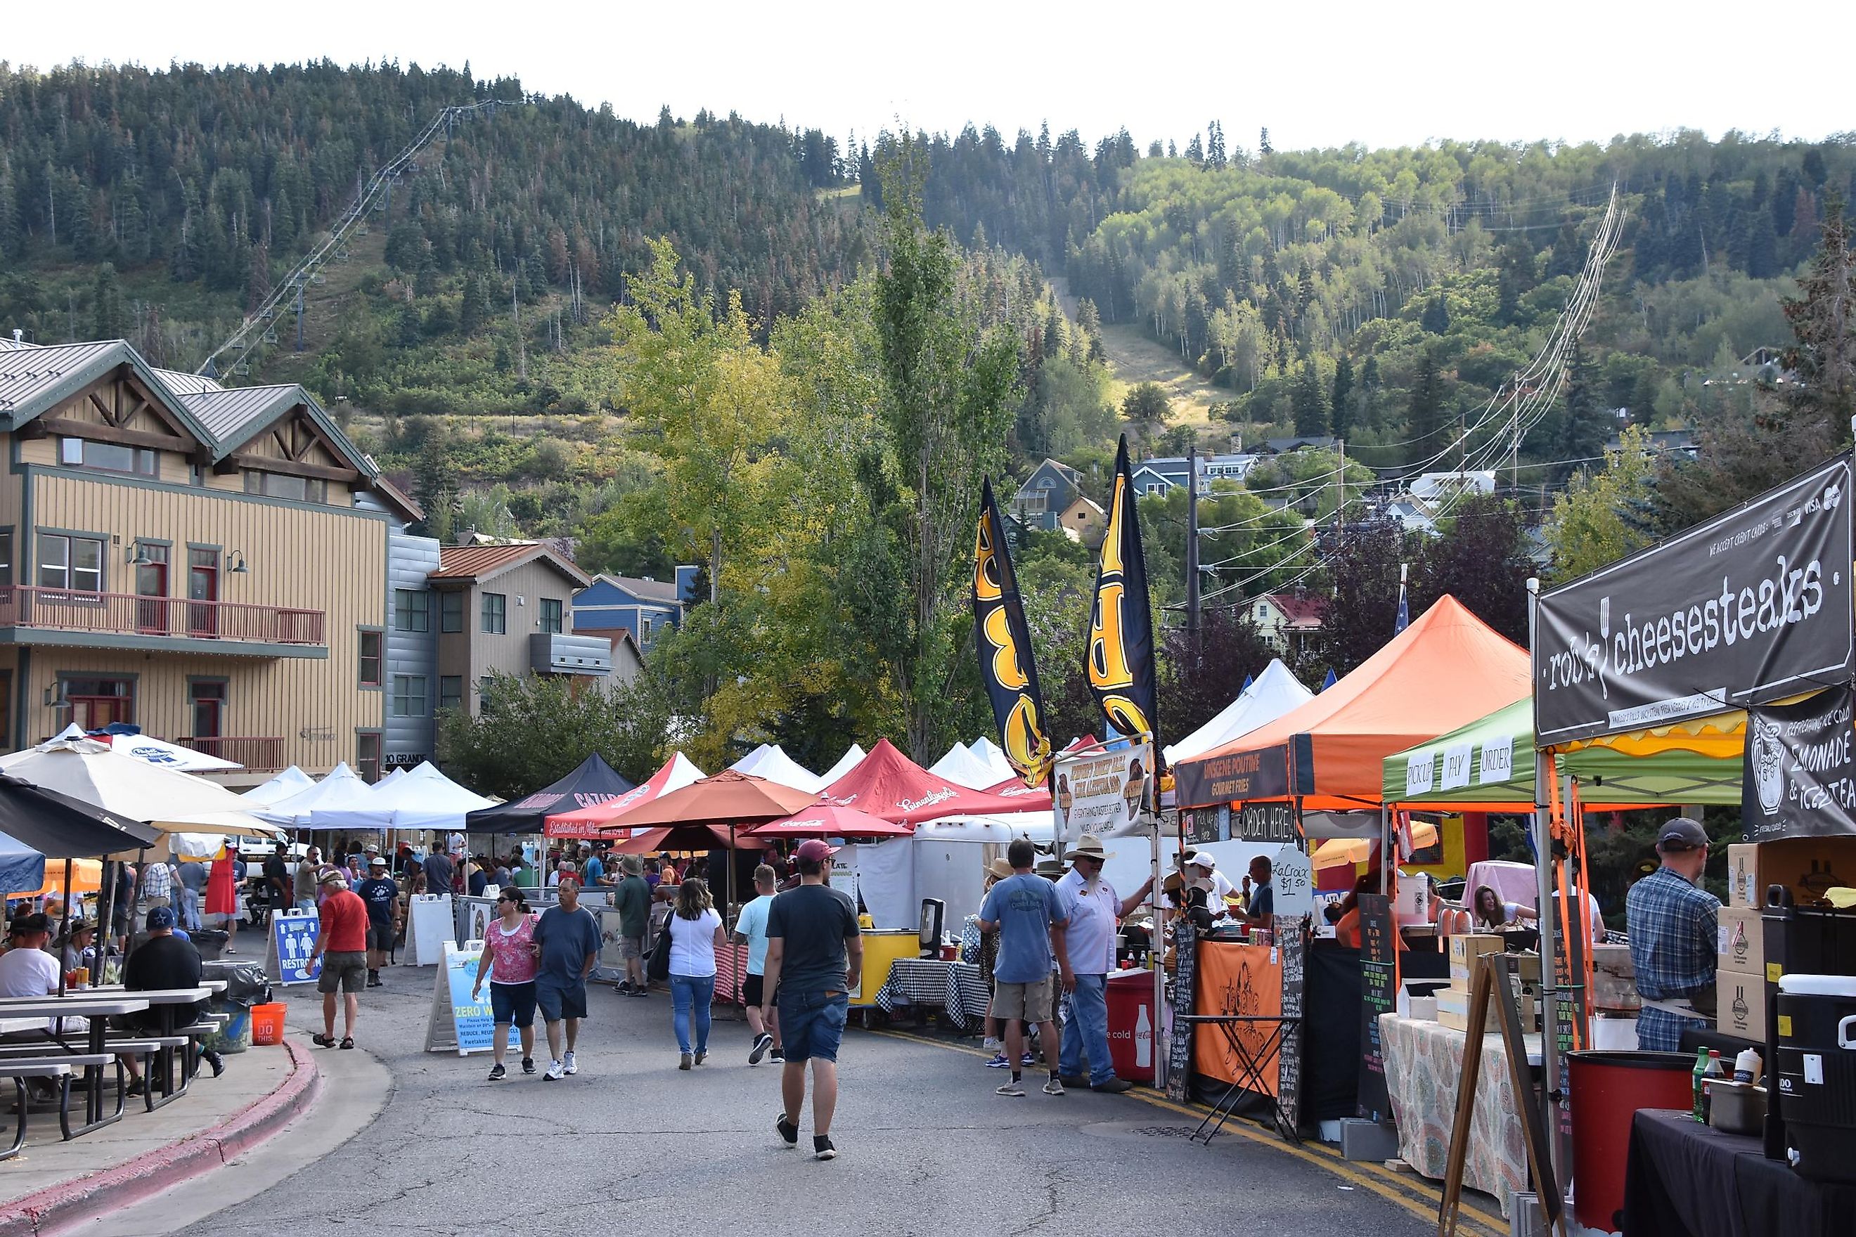
[[[973,549],[973,644],[986,695],[993,701],[999,744],[1025,784],[1036,786],[1050,772],[1050,736],[1045,734],[1032,632],[1025,625],[1019,577],[1012,569],[991,480],[980,490],[980,534]]]

